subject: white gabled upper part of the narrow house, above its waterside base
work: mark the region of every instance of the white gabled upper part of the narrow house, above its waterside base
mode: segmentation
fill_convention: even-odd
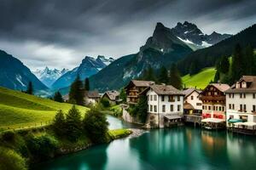
[[[196,88],[188,88],[183,90],[184,96],[184,111],[186,114],[201,114],[202,101],[200,99],[201,90]]]

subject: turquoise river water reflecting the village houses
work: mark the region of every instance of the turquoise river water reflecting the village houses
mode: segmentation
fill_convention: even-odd
[[[132,127],[108,116],[109,127]],[[256,137],[194,127],[150,130],[41,163],[47,170],[256,169]]]

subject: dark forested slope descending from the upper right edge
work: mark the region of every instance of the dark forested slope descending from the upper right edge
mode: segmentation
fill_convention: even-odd
[[[221,56],[230,56],[237,43],[241,47],[251,44],[256,48],[256,25],[248,27],[235,36],[224,39],[221,42],[209,47],[196,50],[178,62],[179,70],[184,74],[189,73],[190,65],[196,65],[198,71],[205,67],[211,67]]]

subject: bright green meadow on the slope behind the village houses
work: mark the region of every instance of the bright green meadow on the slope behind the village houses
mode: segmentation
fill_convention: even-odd
[[[195,86],[196,88],[201,89],[206,88],[207,84],[214,79],[215,73],[215,68],[209,67],[203,69],[202,71],[191,77],[189,76],[189,74],[185,75],[184,77],[182,77],[183,85],[185,85],[186,88],[195,88]]]

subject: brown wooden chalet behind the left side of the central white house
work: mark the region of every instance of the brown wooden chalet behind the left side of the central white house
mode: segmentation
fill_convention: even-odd
[[[139,80],[131,80],[129,84],[125,87],[126,91],[126,102],[128,104],[137,104],[138,94],[143,92],[150,85],[154,84],[153,81],[139,81]]]

